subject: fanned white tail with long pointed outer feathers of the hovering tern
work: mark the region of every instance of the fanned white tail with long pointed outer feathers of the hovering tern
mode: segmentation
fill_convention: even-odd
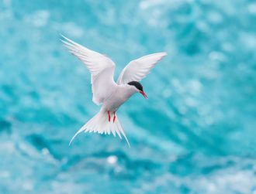
[[[115,137],[118,134],[119,138],[123,137],[126,139],[127,144],[130,147],[130,143],[126,138],[126,134],[123,131],[122,125],[119,122],[118,117],[116,116],[115,122],[113,122],[113,114],[111,115],[111,120],[109,122],[108,114],[104,111],[99,111],[94,117],[91,118],[86,124],[84,124],[71,138],[69,145],[71,145],[74,138],[80,134],[82,131],[86,132],[98,132],[99,134],[110,134],[112,133]]]

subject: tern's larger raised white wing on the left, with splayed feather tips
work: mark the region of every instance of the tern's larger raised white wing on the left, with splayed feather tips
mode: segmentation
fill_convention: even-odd
[[[111,88],[116,85],[113,80],[115,63],[107,56],[87,49],[78,43],[74,43],[74,41],[64,36],[62,37],[63,39],[61,41],[64,43],[64,46],[74,56],[77,56],[79,60],[85,63],[85,66],[91,73],[92,101],[97,105],[102,104],[104,99],[109,97]]]

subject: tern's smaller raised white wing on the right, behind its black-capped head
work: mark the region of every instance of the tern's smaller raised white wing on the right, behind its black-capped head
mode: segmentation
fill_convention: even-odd
[[[132,60],[120,73],[117,84],[125,84],[130,81],[140,81],[150,73],[155,64],[167,53],[154,53]]]

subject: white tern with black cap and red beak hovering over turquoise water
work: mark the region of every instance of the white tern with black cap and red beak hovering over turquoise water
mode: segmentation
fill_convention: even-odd
[[[74,134],[69,145],[81,132],[93,131],[99,134],[112,133],[115,137],[117,134],[120,139],[123,136],[130,147],[116,111],[133,94],[139,93],[147,99],[147,94],[144,92],[140,80],[146,77],[167,53],[153,53],[130,61],[115,82],[113,77],[116,64],[108,56],[81,46],[63,35],[61,35],[61,42],[71,54],[85,64],[91,73],[92,101],[101,105],[100,111]]]

